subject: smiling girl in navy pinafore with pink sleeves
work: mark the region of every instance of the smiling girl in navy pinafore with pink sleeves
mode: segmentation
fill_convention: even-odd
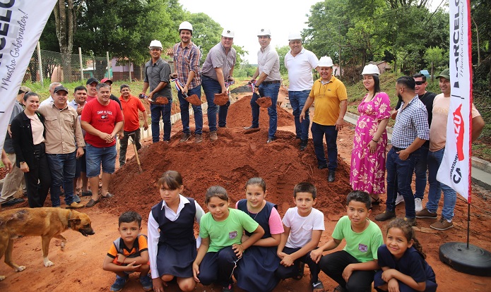
[[[237,262],[234,276],[237,286],[245,291],[268,292],[278,285],[275,271],[280,265],[276,250],[283,233],[281,217],[272,202],[266,201],[266,182],[262,178],[251,178],[246,183],[246,199],[239,200],[237,209],[249,214],[264,229],[264,236],[256,241]],[[242,241],[251,236],[245,232]]]

